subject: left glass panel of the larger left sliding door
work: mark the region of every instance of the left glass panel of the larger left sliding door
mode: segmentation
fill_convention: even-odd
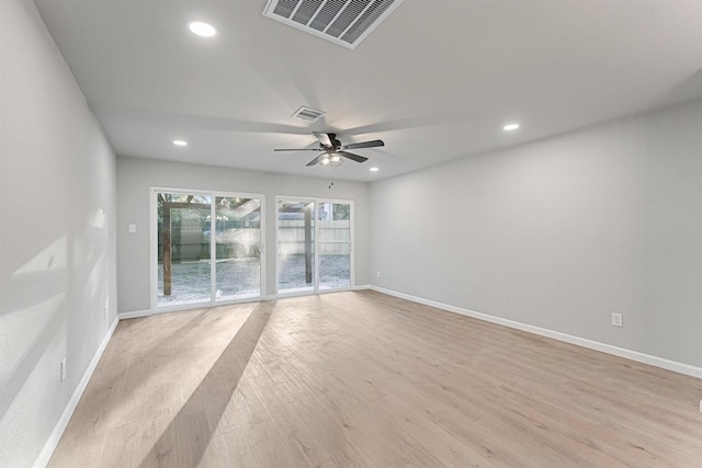
[[[210,301],[211,203],[207,195],[157,194],[158,307]]]

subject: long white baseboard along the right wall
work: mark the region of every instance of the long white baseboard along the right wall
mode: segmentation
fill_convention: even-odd
[[[652,366],[672,370],[679,374],[702,378],[702,367],[695,367],[689,364],[682,364],[675,361],[669,361],[664,357],[652,356],[650,354],[644,354],[637,351],[632,351],[632,350],[614,346],[607,343],[600,343],[599,341],[588,340],[580,336],[574,336],[571,334],[548,330],[541,327],[534,327],[534,326],[518,322],[514,320],[509,320],[500,317],[490,316],[487,313],[476,312],[474,310],[463,309],[461,307],[455,307],[448,304],[438,303],[435,300],[424,299],[421,297],[410,296],[408,294],[398,293],[395,290],[385,289],[377,286],[371,285],[369,289],[375,290],[377,293],[387,294],[389,296],[399,297],[401,299],[411,300],[412,303],[423,304],[424,306],[435,307],[438,309],[446,310],[454,313],[460,313],[466,317],[472,317],[474,319],[479,319],[487,322],[509,327],[512,329],[526,331],[530,333],[539,334],[541,336],[552,338],[554,340],[564,341],[566,343],[576,344],[578,346],[588,347],[590,350],[600,351],[602,353],[612,354],[614,356],[624,357],[624,358],[636,361],[644,364],[649,364]]]

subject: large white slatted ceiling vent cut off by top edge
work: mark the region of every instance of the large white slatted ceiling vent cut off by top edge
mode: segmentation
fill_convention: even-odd
[[[355,48],[404,0],[269,0],[263,15]]]

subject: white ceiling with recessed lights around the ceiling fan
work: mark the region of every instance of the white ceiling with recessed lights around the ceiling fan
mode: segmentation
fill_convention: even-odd
[[[405,0],[353,50],[265,0],[35,4],[122,156],[328,175],[272,149],[336,132],[385,140],[332,169],[374,181],[702,96],[702,0]]]

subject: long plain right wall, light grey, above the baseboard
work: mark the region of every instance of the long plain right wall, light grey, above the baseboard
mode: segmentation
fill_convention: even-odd
[[[701,101],[376,182],[371,205],[378,287],[702,366]]]

